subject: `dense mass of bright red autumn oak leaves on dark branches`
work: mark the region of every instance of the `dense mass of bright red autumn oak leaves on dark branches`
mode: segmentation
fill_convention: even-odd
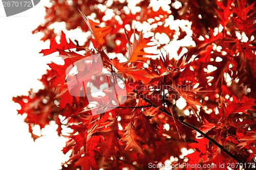
[[[148,169],[149,164],[164,164],[170,157],[175,158],[172,165],[214,163],[216,167],[204,169],[219,169],[224,163],[224,169],[228,165],[252,168],[249,165],[255,165],[256,154],[255,3],[181,0],[167,3],[167,10],[156,10],[153,2],[132,6],[126,1],[51,1],[45,22],[33,33],[44,32],[42,40],[50,39],[50,49],[40,53],[58,52],[65,64],[49,64],[51,69],[40,80],[44,89],[13,98],[22,106],[18,113],[27,114],[32,137],[37,138],[33,126],[42,129],[50,121],[58,125],[58,135],[64,135],[63,127],[73,130],[63,148],[63,153],[71,150],[72,154],[62,169]],[[193,34],[181,27],[172,29],[172,19],[190,21]],[[91,32],[91,37],[79,45],[68,42],[62,32],[57,43],[54,37],[58,35],[50,26],[62,21],[67,30],[80,28]],[[141,30],[141,24],[150,28],[150,34]],[[159,34],[169,41],[158,39]],[[179,59],[164,53],[169,42],[189,37],[195,45],[181,46]],[[87,97],[69,94],[65,72],[72,63],[94,54],[101,55],[103,67],[123,75],[127,93],[121,106],[97,115],[89,109]],[[113,54],[115,58],[110,57]],[[177,107],[181,97],[186,101],[182,109]],[[184,148],[194,152],[184,156]]]

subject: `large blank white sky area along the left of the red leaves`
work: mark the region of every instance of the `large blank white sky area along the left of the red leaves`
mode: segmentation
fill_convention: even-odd
[[[46,128],[46,136],[33,141],[23,117],[17,115],[19,105],[12,96],[27,94],[30,88],[38,89],[37,79],[45,73],[51,57],[42,57],[39,52],[49,47],[39,42],[40,34],[32,35],[44,20],[47,0],[34,8],[6,17],[0,1],[0,169],[57,170],[60,168],[63,138],[54,133],[54,127]]]

